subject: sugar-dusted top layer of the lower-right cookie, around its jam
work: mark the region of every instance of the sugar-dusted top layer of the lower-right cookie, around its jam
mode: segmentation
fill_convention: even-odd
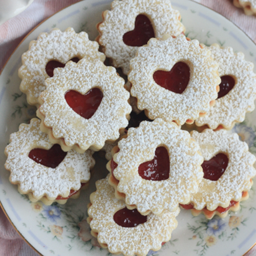
[[[245,142],[239,140],[237,134],[227,134],[225,130],[214,132],[210,129],[203,133],[191,132],[201,147],[205,161],[219,153],[228,155],[228,166],[217,181],[202,180],[198,193],[191,195],[194,208],[201,210],[205,206],[208,210],[215,210],[219,205],[228,207],[231,200],[240,201],[242,192],[251,187],[250,179],[256,175],[253,167],[255,156],[248,152]]]

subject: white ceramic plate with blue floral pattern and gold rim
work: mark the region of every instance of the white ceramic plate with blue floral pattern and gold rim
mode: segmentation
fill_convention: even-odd
[[[49,32],[55,27],[63,31],[71,26],[76,32],[88,32],[94,39],[97,36],[95,25],[101,21],[101,12],[110,8],[110,2],[82,1],[47,19],[16,49],[0,76],[0,200],[19,233],[43,255],[109,255],[107,250],[95,246],[97,241],[90,236],[86,224],[89,195],[95,189],[95,180],[103,178],[107,171],[105,161],[97,157],[90,188],[82,191],[78,200],[69,200],[66,205],[30,203],[27,197],[17,192],[15,185],[10,184],[9,172],[4,168],[4,148],[10,133],[16,132],[20,123],[30,120],[35,114],[35,109],[27,104],[19,91],[17,72],[21,66],[20,56],[40,32]],[[222,46],[231,46],[234,51],[244,52],[247,60],[256,63],[255,44],[226,18],[189,0],[173,0],[172,3],[181,12],[187,36],[206,45],[218,42]],[[247,114],[246,121],[237,125],[234,131],[248,143],[250,151],[256,153],[255,112]],[[241,203],[240,211],[211,221],[204,216],[192,217],[190,211],[182,210],[172,240],[155,255],[241,256],[256,242],[255,199],[253,186],[250,198]]]

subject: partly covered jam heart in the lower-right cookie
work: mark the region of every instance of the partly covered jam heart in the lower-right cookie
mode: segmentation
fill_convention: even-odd
[[[224,174],[228,165],[228,157],[223,153],[219,153],[212,157],[209,161],[202,163],[204,179],[217,181]]]

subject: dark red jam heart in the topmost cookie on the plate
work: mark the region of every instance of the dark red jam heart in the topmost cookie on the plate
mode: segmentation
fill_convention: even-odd
[[[150,19],[139,14],[135,19],[135,28],[123,35],[123,42],[127,46],[143,46],[150,38],[155,37],[155,32]]]

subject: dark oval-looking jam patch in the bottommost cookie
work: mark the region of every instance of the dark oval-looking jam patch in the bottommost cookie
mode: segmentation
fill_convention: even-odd
[[[129,210],[126,207],[114,214],[114,221],[122,227],[136,227],[147,221],[147,217],[141,215],[137,209]]]

